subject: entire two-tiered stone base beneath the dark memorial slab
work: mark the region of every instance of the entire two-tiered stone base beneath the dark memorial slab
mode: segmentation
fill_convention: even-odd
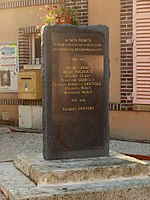
[[[48,162],[41,154],[22,154],[15,165],[0,163],[0,191],[9,200],[150,199],[149,164],[123,155]]]

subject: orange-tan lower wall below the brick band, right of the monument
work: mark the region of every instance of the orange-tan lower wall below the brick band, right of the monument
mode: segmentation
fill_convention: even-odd
[[[149,112],[110,111],[110,132],[113,138],[150,140],[149,126]]]

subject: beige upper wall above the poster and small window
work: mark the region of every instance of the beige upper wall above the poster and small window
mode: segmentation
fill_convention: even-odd
[[[44,7],[32,6],[0,10],[0,42],[18,41],[18,29],[41,23]]]

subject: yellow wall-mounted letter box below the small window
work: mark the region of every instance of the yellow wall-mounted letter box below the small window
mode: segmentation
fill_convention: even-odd
[[[41,99],[42,81],[40,71],[22,71],[18,79],[18,99]]]

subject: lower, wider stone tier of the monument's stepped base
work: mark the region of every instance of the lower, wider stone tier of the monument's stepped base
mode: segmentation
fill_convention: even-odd
[[[148,200],[149,177],[38,187],[12,163],[0,164],[0,188],[10,200]]]

